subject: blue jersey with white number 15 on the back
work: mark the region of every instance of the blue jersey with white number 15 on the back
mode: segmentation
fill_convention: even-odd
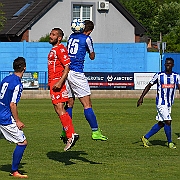
[[[70,70],[83,72],[86,52],[94,52],[91,37],[83,33],[73,33],[68,39],[67,48],[71,60]]]

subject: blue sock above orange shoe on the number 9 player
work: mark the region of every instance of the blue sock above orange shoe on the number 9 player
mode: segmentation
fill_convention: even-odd
[[[17,145],[14,153],[13,153],[13,160],[12,160],[12,171],[17,171],[22,156],[24,154],[24,150],[26,149],[27,145]]]

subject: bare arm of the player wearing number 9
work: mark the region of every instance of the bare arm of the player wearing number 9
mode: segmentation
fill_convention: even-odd
[[[16,121],[16,125],[19,129],[22,129],[25,127],[24,123],[22,123],[19,119],[19,116],[18,116],[18,111],[17,111],[17,105],[16,103],[14,102],[11,102],[10,103],[10,108],[11,108],[11,112],[12,112],[12,115],[13,115],[13,118],[15,119]]]

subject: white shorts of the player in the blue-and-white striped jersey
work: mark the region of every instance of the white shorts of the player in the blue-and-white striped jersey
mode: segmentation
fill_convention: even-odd
[[[157,121],[167,121],[167,120],[172,120],[171,119],[171,107],[167,107],[165,105],[157,105],[157,116],[156,120]]]

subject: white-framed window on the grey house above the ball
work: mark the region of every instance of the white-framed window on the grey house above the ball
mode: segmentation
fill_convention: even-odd
[[[72,4],[72,20],[82,19],[94,22],[95,3],[73,3]]]

